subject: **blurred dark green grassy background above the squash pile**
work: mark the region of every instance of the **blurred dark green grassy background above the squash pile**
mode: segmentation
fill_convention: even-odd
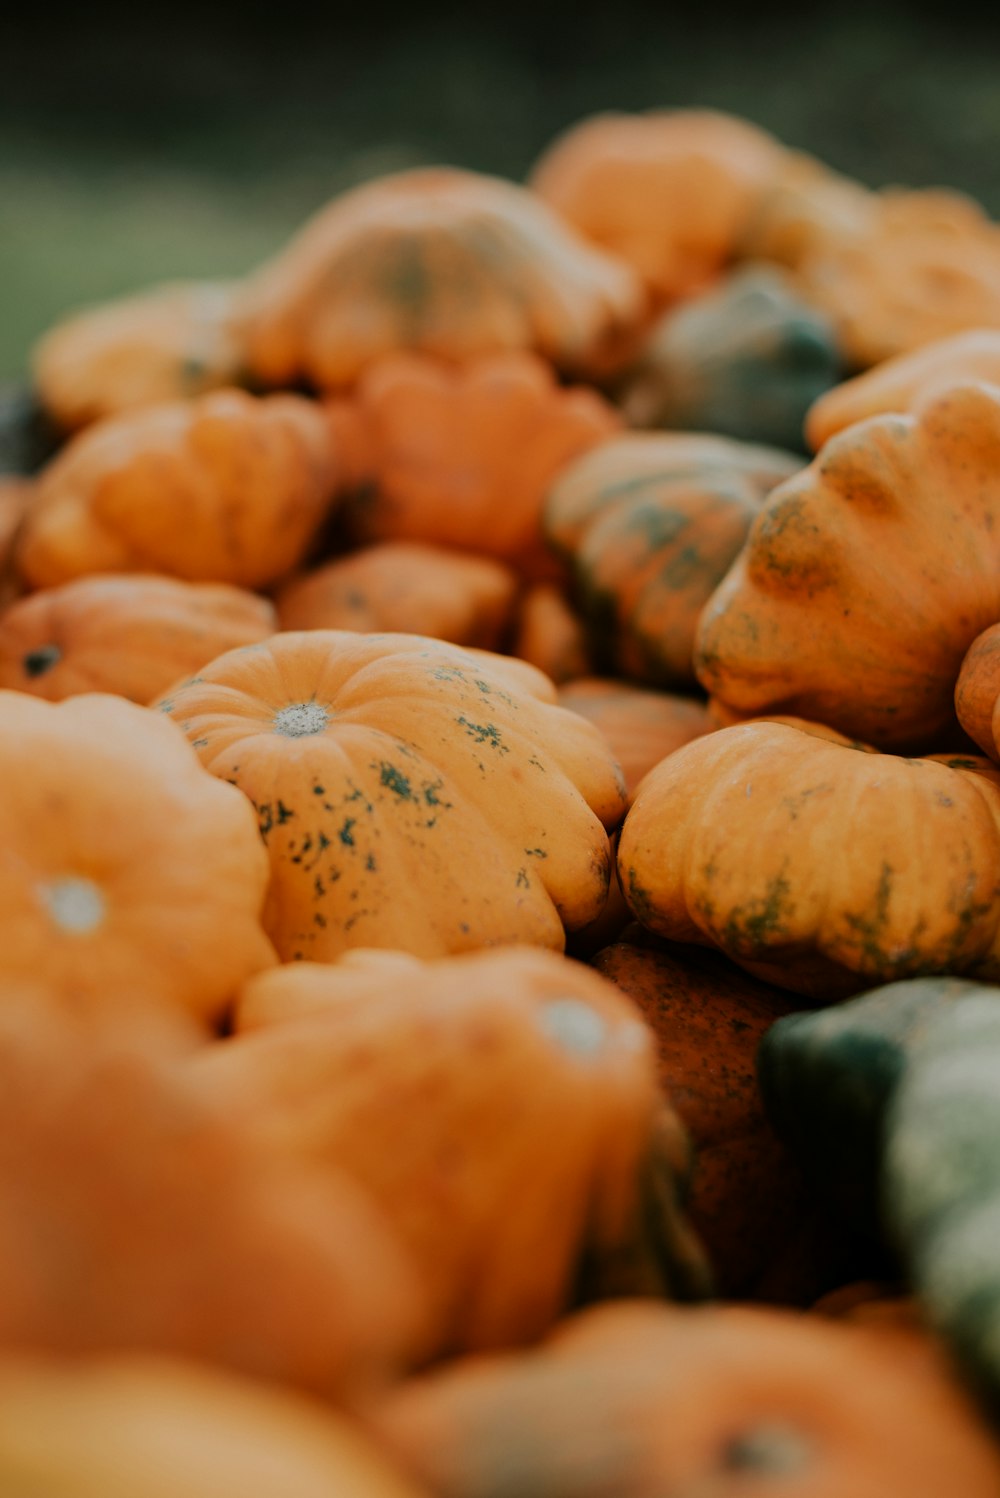
[[[997,7],[1000,9],[1000,7]],[[425,162],[522,177],[597,109],[705,105],[879,186],[1000,217],[1000,15],[96,3],[0,22],[0,379],[64,312],[240,274],[338,189]]]

